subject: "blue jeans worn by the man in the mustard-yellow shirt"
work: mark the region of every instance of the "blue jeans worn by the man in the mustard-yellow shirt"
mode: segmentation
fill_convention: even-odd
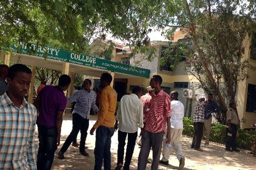
[[[104,159],[104,170],[111,169],[111,137],[115,130],[113,127],[99,126],[96,130],[96,142],[94,148],[94,170],[101,170]]]

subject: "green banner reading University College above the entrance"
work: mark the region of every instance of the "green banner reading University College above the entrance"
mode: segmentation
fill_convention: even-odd
[[[57,48],[43,47],[36,44],[20,42],[11,46],[12,51],[20,54],[28,54],[42,57],[45,59],[54,59],[63,62],[70,62],[87,67],[99,68],[102,70],[129,74],[138,77],[149,78],[150,70],[125,65],[119,62],[112,62],[105,59],[90,57],[83,54],[75,54]],[[34,51],[34,53],[33,53]]]

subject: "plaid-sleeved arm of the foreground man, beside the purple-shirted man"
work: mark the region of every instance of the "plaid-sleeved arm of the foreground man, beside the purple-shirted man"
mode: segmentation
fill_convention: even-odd
[[[35,156],[35,124],[36,124],[36,117],[37,112],[33,110],[33,122],[31,129],[29,131],[29,139],[28,139],[28,149],[27,149],[27,157],[28,157],[28,164],[30,170],[36,170],[36,156]]]

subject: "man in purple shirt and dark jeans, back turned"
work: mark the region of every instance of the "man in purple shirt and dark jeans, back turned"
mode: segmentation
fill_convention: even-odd
[[[38,170],[50,170],[52,167],[55,150],[60,144],[62,115],[67,105],[63,91],[67,90],[70,82],[70,77],[63,74],[58,80],[58,86],[45,86],[35,99],[35,106],[39,110]]]

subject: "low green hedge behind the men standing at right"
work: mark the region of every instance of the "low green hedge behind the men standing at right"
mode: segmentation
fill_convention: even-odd
[[[239,137],[236,138],[237,147],[245,150],[250,150],[254,138],[256,136],[255,130],[243,130],[238,129]],[[194,136],[193,120],[190,117],[183,118],[183,135]],[[226,127],[221,124],[212,124],[210,141],[225,144],[226,139]]]

